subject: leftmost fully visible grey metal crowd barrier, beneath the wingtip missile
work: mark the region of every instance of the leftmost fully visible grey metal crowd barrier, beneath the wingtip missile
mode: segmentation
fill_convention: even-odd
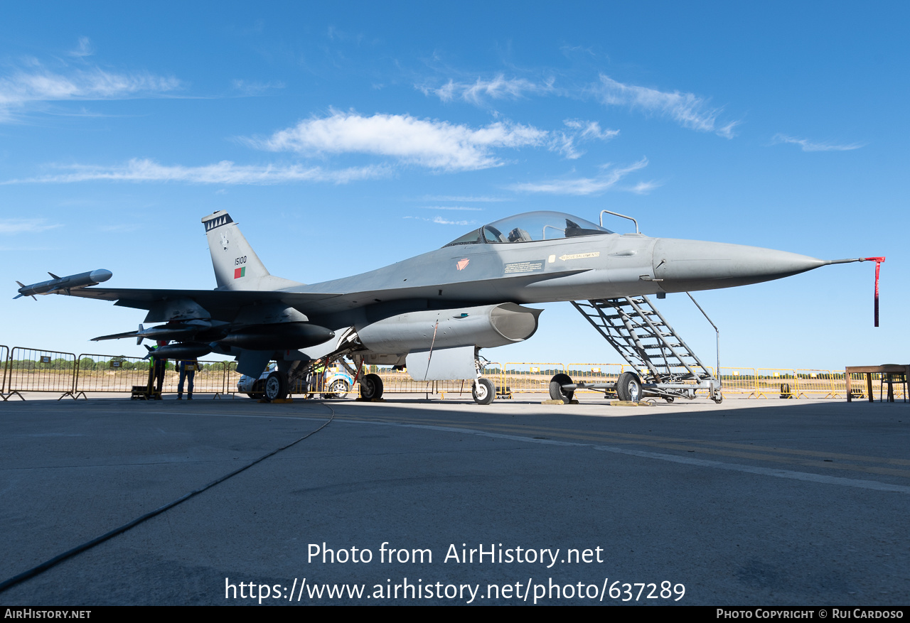
[[[8,385],[5,399],[22,392],[59,392],[76,397],[76,355],[55,350],[15,347],[7,361]]]

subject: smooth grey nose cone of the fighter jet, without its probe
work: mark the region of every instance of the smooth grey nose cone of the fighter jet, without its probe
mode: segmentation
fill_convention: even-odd
[[[667,292],[745,286],[796,275],[826,262],[787,251],[720,242],[660,238],[654,245],[654,278]]]

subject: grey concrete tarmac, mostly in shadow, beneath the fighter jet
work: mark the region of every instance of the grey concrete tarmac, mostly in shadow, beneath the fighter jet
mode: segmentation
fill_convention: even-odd
[[[14,397],[0,581],[329,424],[0,604],[910,601],[907,404],[543,398]]]

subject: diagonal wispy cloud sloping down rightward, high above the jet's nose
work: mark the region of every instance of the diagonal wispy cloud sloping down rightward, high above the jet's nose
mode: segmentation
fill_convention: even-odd
[[[593,91],[606,106],[641,108],[669,116],[683,127],[699,132],[713,132],[724,138],[733,138],[733,128],[739,124],[738,121],[723,124],[718,120],[723,108],[713,108],[707,99],[692,93],[671,93],[647,86],[624,85],[609,75],[601,75],[600,78],[600,84],[595,85]]]

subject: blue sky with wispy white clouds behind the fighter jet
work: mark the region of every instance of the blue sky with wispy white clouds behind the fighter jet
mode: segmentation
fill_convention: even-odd
[[[0,344],[141,354],[144,313],[14,279],[214,287],[239,222],[306,283],[537,209],[645,234],[887,256],[706,292],[722,363],[904,361],[908,9],[900,3],[122,3],[0,8]],[[610,224],[605,223],[607,226]],[[622,222],[612,224],[622,229]],[[618,362],[568,304],[509,361]],[[661,309],[703,358],[713,329]]]

